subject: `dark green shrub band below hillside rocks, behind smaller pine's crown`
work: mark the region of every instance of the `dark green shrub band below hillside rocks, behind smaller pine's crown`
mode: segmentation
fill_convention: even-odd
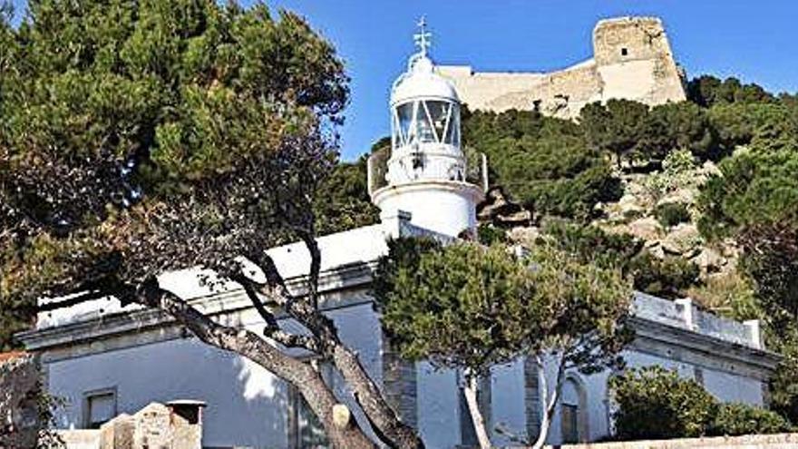
[[[543,226],[544,239],[584,263],[618,268],[632,278],[634,288],[662,298],[682,298],[698,281],[695,263],[673,256],[657,258],[643,242],[629,235],[608,234],[595,226],[550,220]]]

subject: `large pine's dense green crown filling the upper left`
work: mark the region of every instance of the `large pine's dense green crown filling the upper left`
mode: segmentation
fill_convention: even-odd
[[[212,0],[28,7],[18,28],[0,19],[0,347],[37,297],[135,288],[307,228],[348,87],[304,19]],[[346,173],[331,182],[357,190]]]

